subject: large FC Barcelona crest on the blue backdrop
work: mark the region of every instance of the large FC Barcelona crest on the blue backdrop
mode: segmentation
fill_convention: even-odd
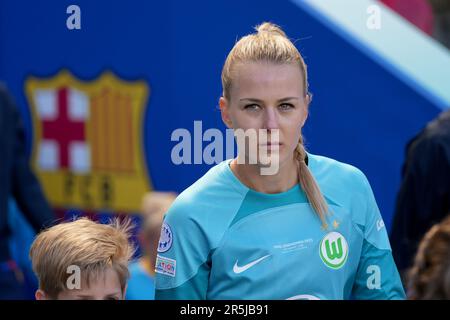
[[[32,164],[54,207],[139,211],[151,189],[143,153],[144,81],[105,72],[80,81],[68,71],[30,77]]]

